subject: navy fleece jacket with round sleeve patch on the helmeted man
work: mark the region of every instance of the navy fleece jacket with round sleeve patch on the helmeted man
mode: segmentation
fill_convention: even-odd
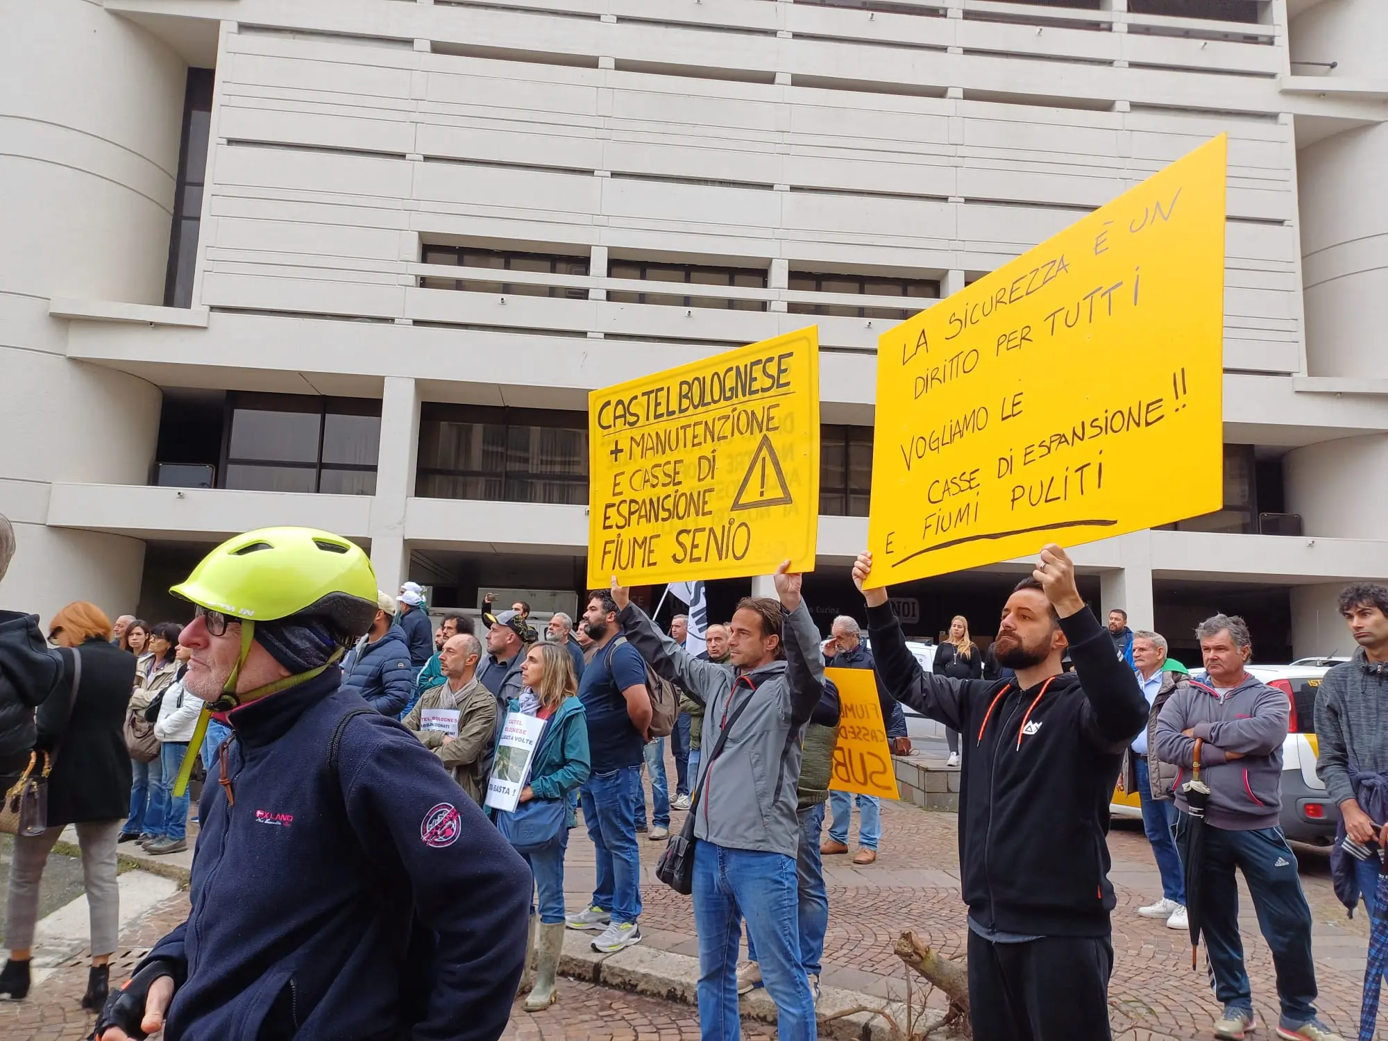
[[[230,713],[200,804],[187,920],[147,962],[167,1041],[494,1041],[525,960],[530,872],[396,720],[330,668]],[[214,768],[215,770],[217,768]]]

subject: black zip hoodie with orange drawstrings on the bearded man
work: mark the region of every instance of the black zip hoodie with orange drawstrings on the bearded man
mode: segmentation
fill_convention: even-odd
[[[1074,672],[1016,680],[923,672],[890,605],[867,608],[887,690],[962,737],[959,865],[969,915],[1024,936],[1110,933],[1109,802],[1146,698],[1084,608],[1060,619]],[[886,706],[884,706],[886,708]]]

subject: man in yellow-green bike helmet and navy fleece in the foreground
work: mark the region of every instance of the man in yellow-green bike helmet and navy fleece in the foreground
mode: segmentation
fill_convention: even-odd
[[[203,790],[189,917],[93,1037],[496,1041],[530,873],[430,750],[341,687],[378,609],[366,555],[261,529],[171,591],[197,609],[185,687],[232,737]]]

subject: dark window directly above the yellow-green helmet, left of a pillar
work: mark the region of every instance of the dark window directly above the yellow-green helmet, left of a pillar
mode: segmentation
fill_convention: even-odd
[[[380,401],[228,394],[223,489],[376,494]]]

